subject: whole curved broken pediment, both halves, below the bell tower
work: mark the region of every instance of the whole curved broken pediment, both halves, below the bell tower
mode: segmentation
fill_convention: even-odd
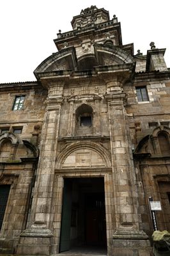
[[[94,44],[95,54],[84,54],[77,60],[75,47],[66,47],[49,56],[35,69],[36,79],[45,72],[59,70],[91,70],[97,66],[134,63],[134,58],[114,45]]]

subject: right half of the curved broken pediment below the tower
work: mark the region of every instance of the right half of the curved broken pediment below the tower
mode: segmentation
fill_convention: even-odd
[[[94,49],[98,65],[118,65],[134,62],[134,58],[129,53],[114,45],[95,44]]]

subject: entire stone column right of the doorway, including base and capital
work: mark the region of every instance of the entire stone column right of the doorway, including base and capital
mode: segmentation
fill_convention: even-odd
[[[137,212],[137,185],[123,106],[125,98],[125,93],[119,87],[105,95],[109,113],[116,219],[112,255],[150,255],[148,236],[140,230],[141,215]]]

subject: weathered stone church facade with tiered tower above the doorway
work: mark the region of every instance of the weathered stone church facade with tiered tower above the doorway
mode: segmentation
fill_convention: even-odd
[[[0,252],[152,255],[150,196],[170,230],[166,49],[134,54],[96,6],[72,28],[35,82],[0,84]]]

